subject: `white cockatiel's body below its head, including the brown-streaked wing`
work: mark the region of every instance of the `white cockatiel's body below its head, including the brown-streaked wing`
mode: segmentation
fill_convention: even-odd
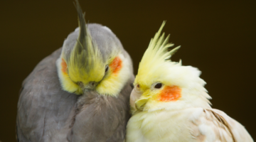
[[[223,111],[190,108],[175,111],[142,111],[132,116],[127,124],[129,141],[252,141],[246,131]],[[245,138],[245,139],[243,139]]]

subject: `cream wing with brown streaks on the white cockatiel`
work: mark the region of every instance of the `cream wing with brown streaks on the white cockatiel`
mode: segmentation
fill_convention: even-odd
[[[252,137],[238,121],[218,109],[203,109],[191,117],[191,135],[196,141],[253,142]]]

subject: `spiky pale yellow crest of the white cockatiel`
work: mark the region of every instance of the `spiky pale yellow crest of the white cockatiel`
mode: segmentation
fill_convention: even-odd
[[[174,44],[169,43],[170,35],[166,38],[164,38],[164,33],[161,35],[165,23],[166,21],[162,23],[159,31],[154,35],[154,38],[151,38],[149,47],[146,49],[142,61],[139,63],[138,75],[135,82],[143,81],[148,84],[154,77],[157,80],[157,76],[162,74],[166,68],[171,67],[171,65],[181,65],[181,61],[178,64],[177,62],[171,62],[171,55],[174,55],[180,46],[169,50]]]

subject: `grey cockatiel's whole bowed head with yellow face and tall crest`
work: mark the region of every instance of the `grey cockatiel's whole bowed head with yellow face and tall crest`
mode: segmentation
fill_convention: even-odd
[[[132,60],[110,28],[86,24],[78,1],[75,6],[79,27],[65,39],[56,62],[60,83],[64,90],[76,94],[96,90],[117,95],[133,73]],[[110,84],[118,89],[109,88]]]

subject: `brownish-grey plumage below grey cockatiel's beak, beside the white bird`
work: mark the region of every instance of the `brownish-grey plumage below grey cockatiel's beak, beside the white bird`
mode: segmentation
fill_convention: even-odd
[[[129,94],[132,91],[127,82],[118,97],[87,92],[78,100],[75,121],[69,133],[69,141],[124,141],[129,114]]]

